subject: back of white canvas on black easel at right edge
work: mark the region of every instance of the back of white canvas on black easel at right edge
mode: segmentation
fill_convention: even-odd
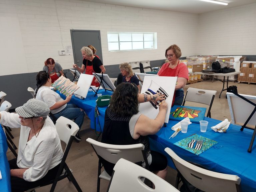
[[[253,103],[256,103],[256,96],[243,94],[239,95],[245,97]],[[242,98],[236,96],[234,93],[227,92],[227,99],[232,120],[231,123],[243,126],[255,107],[247,101],[243,100]],[[256,113],[254,113],[254,115],[251,117],[246,127],[254,129],[255,125]]]

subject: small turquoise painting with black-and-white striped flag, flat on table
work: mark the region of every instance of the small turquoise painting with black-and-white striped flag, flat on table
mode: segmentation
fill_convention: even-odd
[[[217,141],[195,134],[174,143],[174,145],[177,145],[191,153],[199,155],[207,149],[211,148],[212,146],[216,145],[217,143]]]

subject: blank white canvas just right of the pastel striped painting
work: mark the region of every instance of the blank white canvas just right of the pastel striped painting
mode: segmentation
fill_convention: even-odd
[[[87,75],[81,73],[77,82],[77,85],[80,87],[74,92],[74,94],[86,98],[89,88],[91,86],[93,75]]]

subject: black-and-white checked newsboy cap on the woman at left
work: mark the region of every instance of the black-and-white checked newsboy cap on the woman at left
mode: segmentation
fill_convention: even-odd
[[[23,106],[17,107],[15,111],[21,117],[47,117],[50,113],[48,105],[38,99],[29,99]]]

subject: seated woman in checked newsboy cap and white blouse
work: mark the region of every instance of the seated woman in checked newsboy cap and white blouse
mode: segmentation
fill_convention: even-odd
[[[63,151],[46,103],[30,99],[15,111],[1,111],[0,123],[20,127],[18,157],[9,165],[12,192],[22,192],[54,179]]]

